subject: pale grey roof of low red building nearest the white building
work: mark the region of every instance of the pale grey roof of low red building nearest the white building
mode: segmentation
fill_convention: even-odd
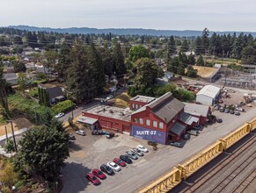
[[[193,115],[199,115],[202,117],[207,117],[208,115],[208,105],[202,105],[202,104],[189,104],[189,103],[183,103],[185,104],[184,111],[193,114]]]

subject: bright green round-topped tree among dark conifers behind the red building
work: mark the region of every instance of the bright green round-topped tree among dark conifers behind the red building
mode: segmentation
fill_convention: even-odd
[[[149,58],[150,52],[142,45],[132,46],[128,53],[128,59],[132,62],[140,58]]]

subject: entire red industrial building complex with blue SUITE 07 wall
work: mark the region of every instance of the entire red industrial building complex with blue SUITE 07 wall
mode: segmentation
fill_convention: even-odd
[[[129,108],[99,104],[82,111],[77,122],[90,125],[91,131],[121,132],[160,144],[178,141],[187,129],[208,120],[207,105],[180,102],[171,92],[158,98],[135,96]]]

